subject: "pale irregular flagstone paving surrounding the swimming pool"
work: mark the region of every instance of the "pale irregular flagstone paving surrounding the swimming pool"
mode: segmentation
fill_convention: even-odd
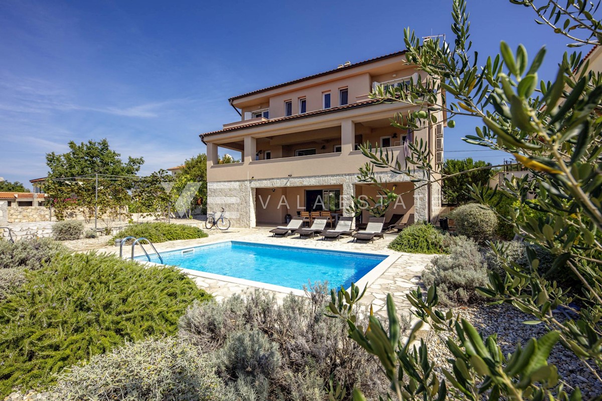
[[[336,249],[339,251],[368,252],[396,256],[397,260],[395,260],[393,265],[389,266],[382,275],[375,278],[368,285],[368,289],[362,299],[364,305],[369,306],[372,304],[374,314],[383,318],[386,318],[386,294],[388,293],[394,295],[399,313],[409,313],[411,306],[406,299],[406,294],[420,284],[420,272],[433,257],[432,255],[399,253],[388,249],[387,246],[394,239],[394,234],[386,234],[384,239],[377,239],[370,243],[355,243],[349,237],[344,237],[340,241],[301,239],[299,236],[272,237],[269,230],[270,228],[231,228],[228,231],[213,229],[208,231],[209,237],[206,238],[170,241],[158,243],[155,246],[157,246],[158,251],[163,252],[220,240],[243,240],[275,245],[303,246],[304,248]],[[82,248],[80,247],[78,250],[81,251]],[[119,248],[111,246],[99,249],[99,251],[119,253]],[[124,250],[124,254],[129,254],[129,248]],[[243,293],[247,290],[255,289],[255,287],[225,280],[214,280],[213,278],[197,276],[191,278],[196,281],[199,287],[213,294],[217,301],[235,293]],[[276,292],[276,296],[279,299],[284,298],[286,295],[288,294]]]

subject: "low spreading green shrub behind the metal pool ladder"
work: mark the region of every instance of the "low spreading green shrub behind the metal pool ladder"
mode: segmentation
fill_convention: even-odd
[[[119,231],[109,243],[114,243],[116,239],[132,237],[145,237],[152,242],[166,242],[176,239],[195,239],[207,236],[205,231],[193,225],[169,224],[163,222],[142,223],[129,225]]]

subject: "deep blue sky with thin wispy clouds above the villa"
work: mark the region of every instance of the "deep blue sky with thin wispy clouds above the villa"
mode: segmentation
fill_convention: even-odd
[[[199,133],[238,120],[228,97],[403,49],[403,28],[450,32],[451,1],[0,2],[0,176],[46,175],[45,154],[70,140],[108,138],[141,173],[205,152]],[[553,78],[567,40],[506,0],[469,0],[474,49],[500,40],[548,57]],[[584,52],[589,49],[583,49]],[[446,158],[503,161],[445,131]]]

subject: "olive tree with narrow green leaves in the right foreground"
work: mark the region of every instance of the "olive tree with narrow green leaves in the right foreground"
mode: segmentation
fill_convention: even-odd
[[[534,10],[538,23],[570,38],[571,46],[597,44],[602,39],[602,25],[596,16],[599,1],[511,2]],[[506,152],[529,170],[529,179],[506,180],[497,191],[541,213],[525,217],[515,208],[500,218],[512,224],[524,240],[553,254],[553,266],[545,274],[539,272],[533,251],[527,254],[529,266],[519,266],[504,256],[503,246],[490,243],[503,261],[505,274],[490,272],[488,286],[479,292],[494,304],[511,304],[531,314],[533,320],[526,323],[544,324],[547,334],[503,355],[495,335],[483,338],[452,311],[439,310],[435,287],[426,294],[416,290],[408,296],[421,322],[405,341],[390,295],[387,330],[374,316],[366,328],[355,325],[353,305],[361,298],[355,286],[349,292],[332,293],[329,313],[347,320],[350,336],[378,358],[391,381],[390,397],[580,400],[579,388],[568,394],[547,358],[560,341],[602,381],[591,366],[602,368],[602,76],[589,70],[588,61],[582,64],[582,54],[574,52],[565,53],[559,61],[553,81],[541,81],[538,71],[545,48],[530,58],[523,46],[513,51],[504,42],[500,54],[480,63],[476,52],[470,51],[465,0],[453,0],[452,4],[452,43],[440,39],[420,43],[413,31],[404,31],[408,63],[426,72],[428,78],[405,87],[377,88],[372,96],[382,102],[415,106],[414,111],[391,119],[402,129],[423,129],[435,122],[433,115],[441,111],[447,114],[448,127],[455,126],[457,115],[472,117],[478,126],[474,135],[464,138],[466,142]],[[408,174],[415,186],[446,179],[431,164],[426,144],[415,142],[409,148],[408,168],[402,170],[392,153],[362,147],[370,163],[360,171],[361,178],[374,179],[371,166],[377,166]],[[497,191],[473,185],[471,196],[488,203]],[[529,200],[532,192],[537,202]],[[580,281],[577,291],[566,292],[550,281],[550,275],[559,269],[572,272]],[[574,307],[574,302],[580,308]],[[553,311],[557,308],[565,308],[573,318],[556,319]],[[435,373],[426,344],[411,346],[422,322],[448,334],[453,369],[442,369],[442,377]],[[364,399],[359,391],[353,398]]]

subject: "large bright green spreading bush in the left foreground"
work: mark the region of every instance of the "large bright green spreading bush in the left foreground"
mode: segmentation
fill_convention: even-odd
[[[125,340],[175,334],[194,299],[176,268],[105,254],[60,254],[0,304],[0,395],[52,384],[63,367]]]

